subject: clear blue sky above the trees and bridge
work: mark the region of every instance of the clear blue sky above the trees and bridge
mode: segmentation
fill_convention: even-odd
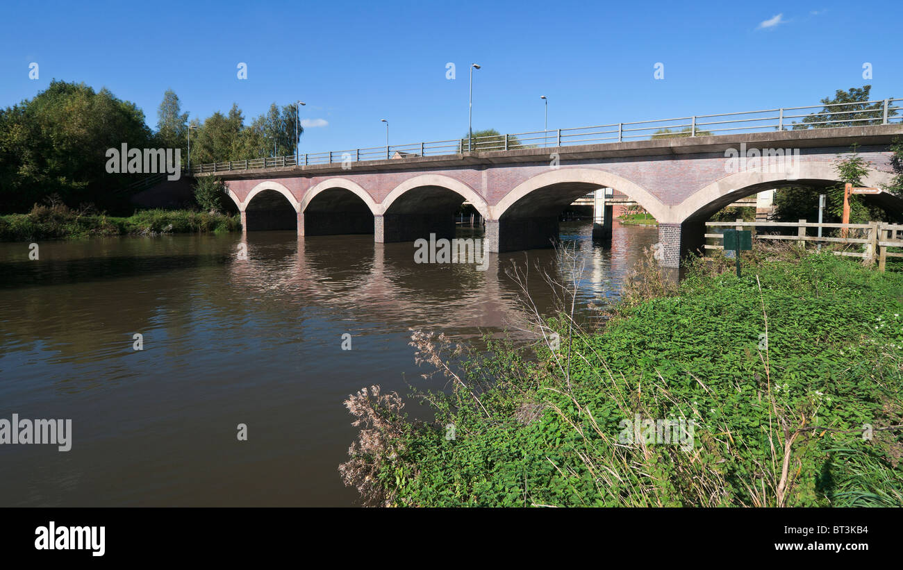
[[[168,87],[202,118],[300,98],[303,119],[326,124],[302,139],[318,152],[384,144],[382,118],[393,144],[461,136],[471,62],[474,129],[503,133],[543,128],[540,95],[550,129],[815,105],[866,83],[903,97],[901,16],[898,3],[798,1],[7,1],[0,106],[51,78],[108,87],[152,127]]]

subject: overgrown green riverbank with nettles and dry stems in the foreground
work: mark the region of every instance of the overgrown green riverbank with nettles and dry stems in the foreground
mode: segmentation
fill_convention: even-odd
[[[547,321],[557,348],[415,333],[454,389],[418,394],[430,424],[351,397],[343,480],[399,506],[903,506],[903,275],[758,257],[641,271],[601,332]]]

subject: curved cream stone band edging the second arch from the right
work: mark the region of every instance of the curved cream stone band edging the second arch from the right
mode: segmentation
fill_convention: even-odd
[[[646,208],[647,212],[657,220],[666,219],[667,216],[668,207],[636,182],[606,170],[562,168],[549,170],[518,184],[496,206],[492,207],[493,218],[500,219],[506,213],[510,214],[512,208],[516,207],[518,202],[529,197],[536,190],[564,184],[582,185],[587,188],[590,186],[615,188],[636,200],[640,206]],[[557,212],[555,214],[557,215]]]

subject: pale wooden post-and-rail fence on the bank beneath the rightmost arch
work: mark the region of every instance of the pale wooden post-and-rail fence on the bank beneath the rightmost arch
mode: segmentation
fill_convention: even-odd
[[[801,247],[806,242],[824,244],[851,244],[860,245],[861,252],[832,252],[834,255],[846,255],[848,257],[860,257],[862,262],[870,265],[878,262],[878,269],[884,271],[889,257],[903,257],[903,253],[889,252],[890,247],[903,247],[903,225],[887,224],[884,222],[869,222],[868,224],[817,224],[800,220],[798,222],[706,222],[706,227],[748,227],[754,239],[796,241]],[[758,234],[757,228],[796,228],[796,234]],[[828,237],[806,234],[807,228],[847,229],[847,236]],[[849,232],[854,230],[854,232]],[[861,237],[850,237],[850,234],[858,234]],[[722,234],[705,234],[706,238],[722,239]],[[707,250],[724,249],[721,244],[705,244]]]

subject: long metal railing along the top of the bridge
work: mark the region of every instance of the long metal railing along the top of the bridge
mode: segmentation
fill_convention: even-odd
[[[862,109],[862,106],[875,106],[875,108]],[[846,110],[843,110],[842,107],[846,107]],[[831,110],[824,112],[826,108]],[[809,111],[806,112],[806,110]],[[573,144],[684,138],[725,133],[792,131],[830,125],[903,124],[903,115],[898,114],[900,110],[903,110],[903,99],[901,98],[831,105],[779,107],[720,115],[692,115],[632,123],[597,124],[551,131],[494,134],[473,137],[470,140],[460,138],[374,146],[347,151],[305,152],[298,156],[297,162],[292,154],[265,159],[198,164],[192,166],[191,171],[200,173],[312,164],[349,164],[351,162],[442,156],[464,152],[514,151]],[[818,120],[796,121],[796,119],[805,120],[806,118]]]

